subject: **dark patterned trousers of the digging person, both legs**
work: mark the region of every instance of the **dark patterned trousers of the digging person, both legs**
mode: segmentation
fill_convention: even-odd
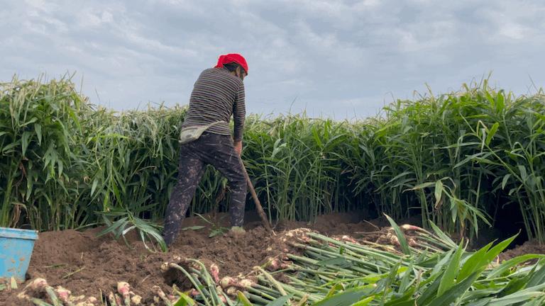
[[[246,179],[230,136],[205,132],[198,140],[180,146],[178,182],[170,194],[163,237],[174,242],[182,226],[189,203],[204,173],[211,164],[228,180],[231,187],[231,226],[242,226],[246,205]]]

